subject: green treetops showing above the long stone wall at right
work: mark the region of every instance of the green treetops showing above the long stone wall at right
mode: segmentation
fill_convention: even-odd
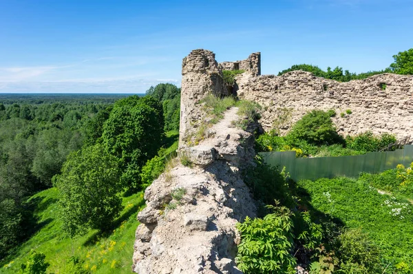
[[[327,67],[327,71],[321,70],[317,65],[293,65],[292,67],[283,70],[278,73],[278,76],[292,72],[294,70],[304,70],[305,72],[312,72],[315,76],[332,79],[339,82],[348,82],[351,80],[364,79],[376,74],[383,73],[395,73],[395,74],[413,74],[413,48],[406,50],[405,52],[399,52],[393,56],[394,63],[391,63],[389,67],[384,70],[354,73],[348,70],[344,70],[342,67],[335,67],[332,70],[331,67]]]

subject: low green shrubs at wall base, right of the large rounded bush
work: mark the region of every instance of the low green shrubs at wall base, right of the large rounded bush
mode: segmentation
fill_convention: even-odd
[[[396,143],[396,137],[392,134],[383,133],[381,136],[374,136],[371,131],[366,131],[363,134],[346,138],[346,145],[350,149],[357,151],[379,151],[385,149],[388,145]],[[394,150],[394,147],[390,147]]]

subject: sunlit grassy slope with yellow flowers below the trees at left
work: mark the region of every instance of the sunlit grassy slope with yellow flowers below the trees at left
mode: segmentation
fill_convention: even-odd
[[[90,273],[132,273],[135,230],[139,224],[136,214],[144,206],[143,193],[123,198],[125,209],[115,220],[110,234],[92,230],[74,239],[65,238],[61,233],[58,199],[57,189],[52,188],[28,200],[35,205],[41,228],[12,255],[0,261],[0,273],[18,273],[32,249],[45,253],[45,261],[50,263],[47,273],[65,273],[66,260],[72,255],[84,260],[84,267],[92,268]]]

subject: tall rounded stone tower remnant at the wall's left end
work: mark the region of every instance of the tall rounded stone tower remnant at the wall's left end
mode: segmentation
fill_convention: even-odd
[[[179,144],[197,130],[202,112],[197,105],[208,94],[228,95],[222,79],[222,70],[209,50],[193,50],[182,61]]]

